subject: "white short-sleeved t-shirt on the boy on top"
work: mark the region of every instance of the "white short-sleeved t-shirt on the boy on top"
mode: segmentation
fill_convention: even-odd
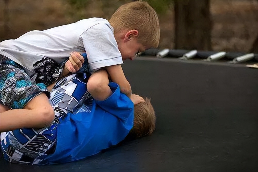
[[[44,56],[61,63],[72,51],[87,54],[92,71],[123,64],[106,19],[90,18],[44,31],[30,31],[21,37],[0,42],[0,54],[33,71],[33,64]]]

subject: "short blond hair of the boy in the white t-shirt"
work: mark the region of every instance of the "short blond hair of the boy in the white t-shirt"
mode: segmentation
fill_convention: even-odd
[[[157,48],[159,45],[159,19],[147,2],[135,1],[120,6],[109,22],[115,32],[137,30],[138,41],[147,48]]]

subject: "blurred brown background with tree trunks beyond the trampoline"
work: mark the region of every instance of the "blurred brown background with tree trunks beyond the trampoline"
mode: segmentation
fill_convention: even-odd
[[[0,41],[80,19],[109,19],[120,5],[131,1],[0,0]],[[257,0],[146,1],[160,19],[160,49],[257,53]]]

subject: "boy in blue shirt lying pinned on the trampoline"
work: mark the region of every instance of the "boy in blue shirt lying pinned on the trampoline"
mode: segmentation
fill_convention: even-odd
[[[105,70],[92,75],[79,72],[58,81],[50,98],[55,112],[52,124],[2,134],[4,158],[31,165],[71,162],[116,145],[126,136],[150,135],[156,119],[150,101],[135,94],[131,101],[113,82],[104,94],[107,98],[94,100],[87,82],[100,81],[109,82]]]

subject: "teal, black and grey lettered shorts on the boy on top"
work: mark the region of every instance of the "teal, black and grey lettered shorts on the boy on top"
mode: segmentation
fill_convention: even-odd
[[[15,62],[0,55],[0,103],[11,109],[22,109],[31,99],[44,92],[45,84],[36,84]]]

